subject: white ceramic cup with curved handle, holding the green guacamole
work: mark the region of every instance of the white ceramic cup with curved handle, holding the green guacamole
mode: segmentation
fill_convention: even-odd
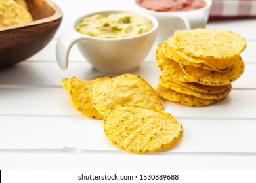
[[[102,14],[104,16],[117,12],[127,12],[123,10],[112,10],[104,12],[93,12],[85,14],[92,16],[93,14]],[[135,37],[125,38],[99,38],[84,35],[75,30],[75,26],[82,18],[77,18],[73,23],[72,29],[64,32],[58,39],[56,46],[56,58],[58,65],[62,69],[68,67],[68,54],[70,48],[77,43],[83,57],[93,65],[93,67],[102,73],[118,75],[121,73],[129,73],[137,67],[146,58],[148,52],[154,44],[158,29],[158,20],[149,14],[142,12],[134,12],[148,18],[152,22],[153,28],[146,33],[142,33]]]

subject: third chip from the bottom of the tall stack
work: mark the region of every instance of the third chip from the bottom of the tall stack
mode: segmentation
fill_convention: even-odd
[[[205,93],[205,94],[219,94],[225,92],[226,90],[231,90],[231,84],[221,85],[221,86],[211,86],[211,85],[203,85],[196,82],[175,82],[174,80],[170,80],[166,76],[160,76],[160,82],[165,83],[167,88],[170,88],[169,84],[175,83],[183,86],[184,88],[188,88],[189,90],[194,90],[195,92]]]

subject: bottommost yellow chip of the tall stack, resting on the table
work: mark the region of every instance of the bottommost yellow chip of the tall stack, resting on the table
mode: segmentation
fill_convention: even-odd
[[[203,107],[205,105],[209,105],[211,103],[215,103],[217,100],[210,99],[200,99],[198,97],[194,97],[191,95],[186,95],[183,93],[175,92],[169,88],[165,88],[164,86],[158,85],[156,88],[156,92],[166,99],[167,101],[173,101],[177,103],[181,103],[183,105],[194,106],[194,107]]]

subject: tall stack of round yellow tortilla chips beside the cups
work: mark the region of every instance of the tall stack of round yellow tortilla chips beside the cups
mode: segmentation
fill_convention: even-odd
[[[239,54],[246,45],[244,37],[232,31],[175,31],[156,49],[162,72],[157,92],[169,101],[196,107],[223,99],[244,72]]]

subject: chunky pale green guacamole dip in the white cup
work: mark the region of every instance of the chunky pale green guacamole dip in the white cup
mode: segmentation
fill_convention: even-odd
[[[144,16],[131,12],[120,12],[103,16],[94,14],[85,17],[76,29],[94,37],[121,38],[140,35],[152,29],[153,25]]]

